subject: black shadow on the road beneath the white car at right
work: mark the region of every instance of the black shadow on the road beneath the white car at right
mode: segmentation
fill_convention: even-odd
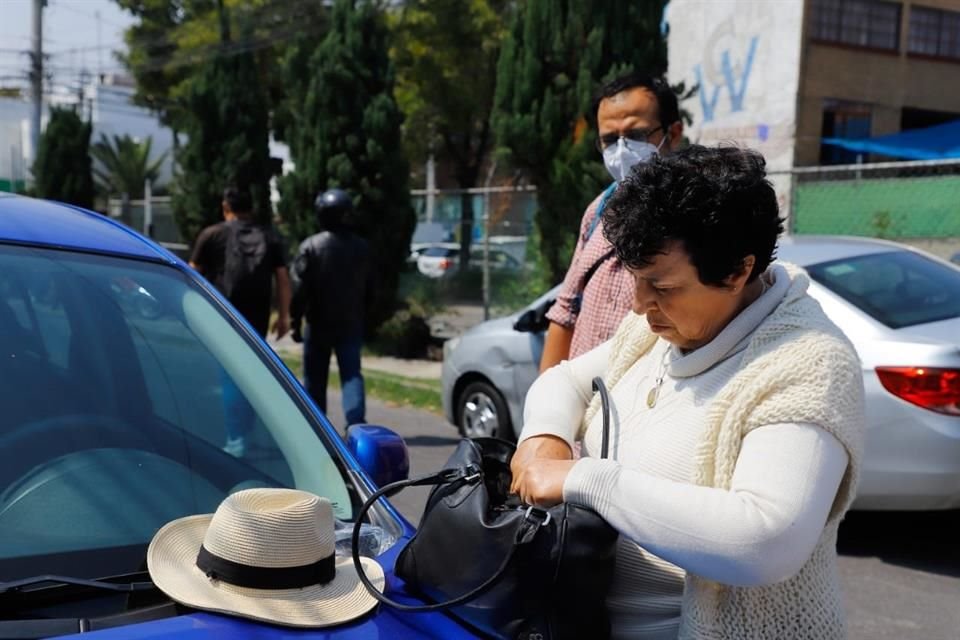
[[[854,511],[840,525],[837,551],[960,577],[960,510]]]

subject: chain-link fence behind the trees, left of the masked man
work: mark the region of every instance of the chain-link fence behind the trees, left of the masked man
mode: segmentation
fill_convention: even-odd
[[[520,309],[543,293],[542,265],[532,243],[535,189],[419,189],[411,196],[417,227],[398,295],[402,309],[435,323],[434,336],[456,335],[485,318]],[[467,208],[472,222],[464,225]],[[180,235],[168,196],[149,202],[110,198],[107,212],[189,258],[192,239]],[[470,234],[470,259],[464,268],[460,252],[465,231]]]

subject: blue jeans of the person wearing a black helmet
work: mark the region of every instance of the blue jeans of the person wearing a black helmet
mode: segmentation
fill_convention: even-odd
[[[362,337],[357,334],[331,344],[322,337],[303,334],[303,383],[317,406],[327,411],[327,379],[330,375],[330,353],[337,355],[340,388],[343,392],[343,415],[347,426],[366,422],[363,375],[360,373]]]

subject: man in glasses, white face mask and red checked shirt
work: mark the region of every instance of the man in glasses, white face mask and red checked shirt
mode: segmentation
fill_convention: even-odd
[[[634,165],[676,149],[683,136],[677,96],[659,78],[621,76],[600,90],[596,105],[597,146],[614,182],[583,214],[573,259],[546,316],[541,372],[608,340],[630,310],[633,279],[603,235],[603,210]]]

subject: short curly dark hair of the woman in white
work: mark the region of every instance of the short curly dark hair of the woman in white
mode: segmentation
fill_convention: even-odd
[[[620,261],[649,266],[672,241],[700,282],[720,286],[756,259],[752,282],[775,259],[783,219],[756,151],[691,145],[637,165],[610,197],[603,229]]]

